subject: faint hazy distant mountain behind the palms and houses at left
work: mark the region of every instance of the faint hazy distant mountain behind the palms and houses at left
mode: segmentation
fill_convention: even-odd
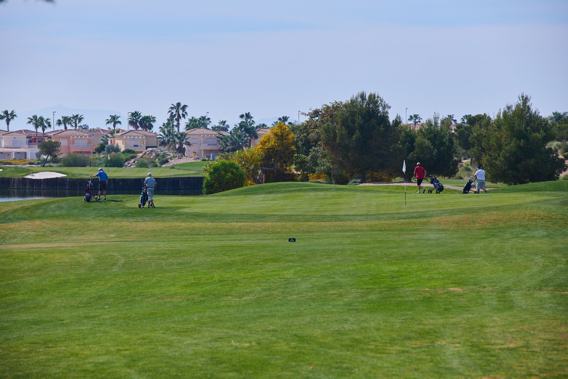
[[[112,111],[112,110],[94,110],[94,109],[75,109],[69,108],[62,105],[55,105],[52,107],[37,109],[34,111],[16,111],[18,117],[16,117],[10,123],[10,130],[18,130],[18,129],[33,129],[30,125],[26,124],[28,121],[28,117],[32,115],[44,116],[52,120],[52,112],[55,111],[55,120],[57,121],[58,118],[61,116],[70,116],[73,114],[82,114],[85,119],[83,120],[83,124],[89,125],[91,128],[107,128],[105,125],[105,120],[108,118],[108,115],[116,114],[122,116],[122,113],[119,111]],[[123,125],[126,126],[126,122],[124,122],[124,117],[121,117],[121,121]],[[0,123],[0,128],[2,124]],[[68,126],[69,127],[69,126]],[[2,129],[6,129],[6,124]],[[59,127],[56,127],[59,129]]]

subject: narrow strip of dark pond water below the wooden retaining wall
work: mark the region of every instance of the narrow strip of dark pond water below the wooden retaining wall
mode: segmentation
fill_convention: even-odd
[[[95,190],[95,194],[98,191]],[[201,195],[201,190],[157,190],[154,195],[195,196]],[[140,191],[114,190],[108,195],[140,195]],[[52,197],[83,197],[85,190],[53,190],[53,189],[5,189],[0,188],[0,202],[32,199],[47,199]]]

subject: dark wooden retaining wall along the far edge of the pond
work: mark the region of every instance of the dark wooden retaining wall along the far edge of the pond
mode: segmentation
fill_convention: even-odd
[[[176,178],[155,178],[158,190],[194,190],[201,191],[203,177],[182,176]],[[57,190],[84,190],[89,180],[84,178],[0,178],[0,188],[5,189],[57,189]],[[144,178],[128,178],[108,180],[108,190],[140,191]],[[98,179],[93,179],[93,186],[98,189]]]

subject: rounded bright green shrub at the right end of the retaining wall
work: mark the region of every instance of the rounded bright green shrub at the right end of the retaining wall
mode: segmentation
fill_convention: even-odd
[[[245,170],[233,161],[213,161],[207,165],[207,176],[203,180],[206,195],[241,188],[245,184]]]

